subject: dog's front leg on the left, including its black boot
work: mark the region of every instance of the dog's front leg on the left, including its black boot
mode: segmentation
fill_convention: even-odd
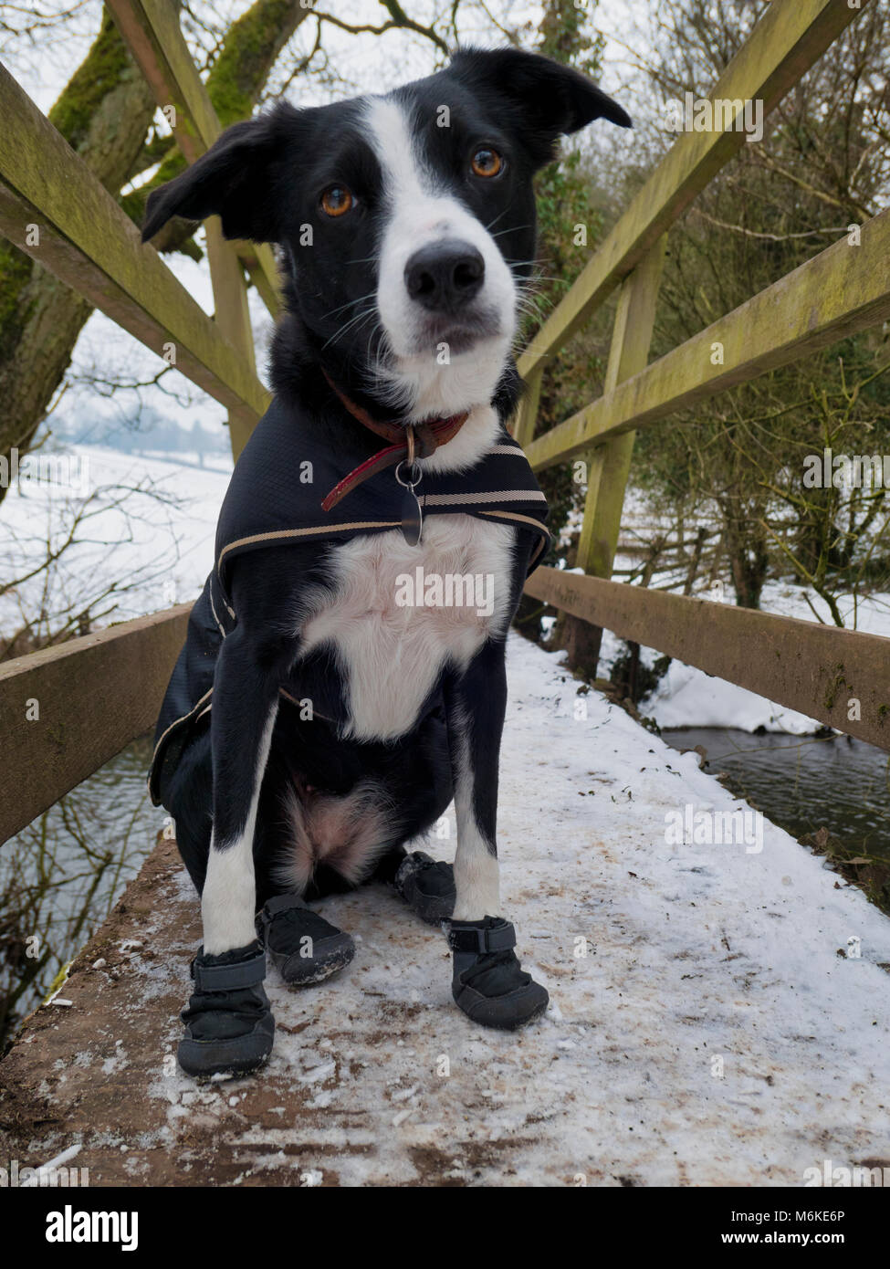
[[[258,655],[259,654],[259,655]],[[201,896],[204,943],[192,962],[179,1063],[189,1075],[244,1075],[272,1052],[274,1019],[256,938],[254,829],[278,709],[274,656],[237,627],[213,680],[213,829]]]

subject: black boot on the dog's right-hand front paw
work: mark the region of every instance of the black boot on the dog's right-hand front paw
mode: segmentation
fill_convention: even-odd
[[[455,953],[451,992],[474,1023],[515,1030],[547,1008],[550,996],[519,966],[510,921],[501,916],[452,921],[448,945]]]

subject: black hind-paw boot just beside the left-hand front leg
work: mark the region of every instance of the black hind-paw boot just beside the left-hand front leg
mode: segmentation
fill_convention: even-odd
[[[302,907],[296,895],[270,898],[256,916],[256,934],[284,982],[295,987],[322,982],[355,956],[352,937]]]

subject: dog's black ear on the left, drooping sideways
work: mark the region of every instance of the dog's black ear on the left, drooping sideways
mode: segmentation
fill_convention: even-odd
[[[298,113],[282,103],[269,114],[226,128],[182,176],[149,194],[142,241],[152,239],[173,216],[189,221],[220,216],[229,239],[276,242],[281,232],[274,197],[277,160],[287,123]]]

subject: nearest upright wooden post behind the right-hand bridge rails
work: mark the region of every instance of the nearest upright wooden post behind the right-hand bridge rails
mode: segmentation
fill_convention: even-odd
[[[621,286],[603,395],[646,368],[665,239],[667,235],[661,235]],[[626,431],[588,454],[587,500],[576,563],[594,577],[612,576],[635,435]],[[599,626],[566,617],[562,638],[569,664],[592,679],[597,674],[602,637]]]

